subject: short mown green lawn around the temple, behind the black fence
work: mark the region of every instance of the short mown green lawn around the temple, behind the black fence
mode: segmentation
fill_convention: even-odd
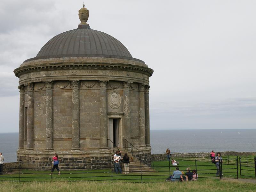
[[[223,158],[223,178],[236,178],[236,159],[232,157],[229,158],[229,162],[226,158]],[[186,172],[186,168],[190,167],[191,170],[197,169],[199,180],[205,180],[206,177],[216,178],[216,167],[215,164],[209,163],[208,157],[200,161],[198,160],[190,160],[188,159],[176,159],[179,161],[180,171]],[[247,159],[248,160],[248,159]],[[244,163],[245,162],[245,163]],[[248,161],[248,163],[251,161]],[[229,164],[228,164],[229,163]],[[244,157],[241,158],[241,164],[246,165],[247,162],[244,161]],[[249,163],[250,164],[250,163]],[[196,166],[197,165],[197,166]],[[143,182],[163,182],[170,174],[169,172],[169,162],[168,161],[156,161],[152,163],[152,168],[154,168],[157,172],[140,172],[138,173],[130,173],[129,175],[121,175],[115,174],[115,172],[111,172],[111,169],[100,169],[100,170],[60,170],[61,175],[58,176],[57,171],[54,171],[54,174],[49,175],[50,169],[48,170],[19,170],[13,173],[0,175],[0,180],[12,180],[12,181],[95,181],[101,180],[105,182],[113,182],[113,181],[122,181],[122,182],[141,182],[141,178]],[[247,171],[242,170],[242,176],[239,172],[238,166],[238,176],[239,178],[249,178],[248,176],[253,176],[255,178],[254,167],[242,167],[242,169],[246,169]],[[171,174],[175,170],[175,167],[170,166]],[[254,174],[254,175],[253,175]]]

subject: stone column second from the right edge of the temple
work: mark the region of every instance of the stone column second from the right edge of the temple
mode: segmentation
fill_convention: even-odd
[[[140,127],[140,147],[145,144],[145,85],[139,84],[139,127]]]

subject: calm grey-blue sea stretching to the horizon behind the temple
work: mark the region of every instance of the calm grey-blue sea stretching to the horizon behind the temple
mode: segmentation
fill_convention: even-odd
[[[0,153],[5,162],[17,161],[19,133],[0,133]],[[217,151],[256,151],[256,129],[151,130],[152,154]]]

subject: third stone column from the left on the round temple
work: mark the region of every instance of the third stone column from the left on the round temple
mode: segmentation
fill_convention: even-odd
[[[53,151],[53,81],[44,83],[46,87],[45,151]]]

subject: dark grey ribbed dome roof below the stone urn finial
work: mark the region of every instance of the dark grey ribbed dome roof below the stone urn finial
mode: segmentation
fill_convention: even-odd
[[[42,47],[36,58],[60,56],[132,58],[127,48],[116,38],[89,28],[74,29],[53,37]]]

